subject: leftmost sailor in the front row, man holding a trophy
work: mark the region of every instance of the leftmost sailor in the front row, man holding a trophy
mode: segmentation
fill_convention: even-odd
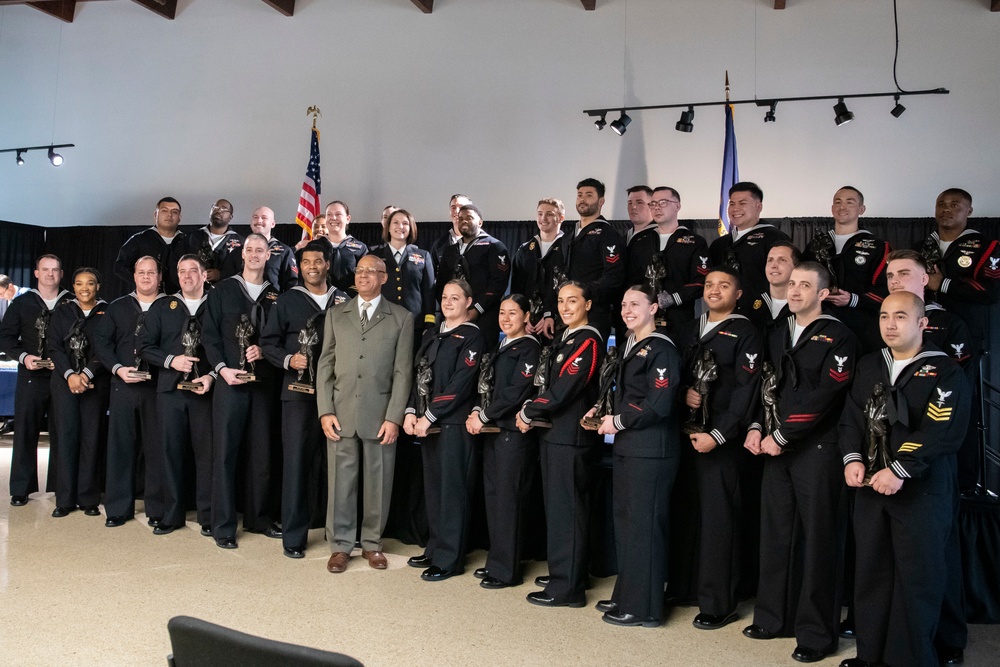
[[[46,336],[52,311],[72,294],[59,287],[62,262],[42,255],[35,262],[38,287],[10,302],[0,324],[0,350],[17,359],[14,393],[14,451],[10,463],[10,504],[28,504],[28,494],[38,491],[38,434],[45,426],[51,404],[49,378],[52,360]],[[55,483],[55,436],[49,453],[48,487]]]

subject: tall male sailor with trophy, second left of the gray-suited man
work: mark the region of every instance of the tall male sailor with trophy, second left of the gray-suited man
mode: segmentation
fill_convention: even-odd
[[[270,514],[271,405],[276,371],[263,361],[257,337],[278,289],[265,277],[268,239],[258,233],[243,242],[243,272],[219,282],[208,296],[202,342],[219,374],[213,399],[212,535],[223,549],[236,544],[236,463],[247,448],[247,496],[243,527],[281,537]]]

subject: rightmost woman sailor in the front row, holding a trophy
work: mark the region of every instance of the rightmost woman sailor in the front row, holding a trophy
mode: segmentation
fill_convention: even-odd
[[[618,579],[610,600],[597,603],[612,625],[656,627],[663,610],[670,491],[680,457],[675,406],[681,359],[656,329],[656,293],[630,287],[622,320],[631,330],[619,354],[610,414],[598,433],[613,435],[613,508]]]

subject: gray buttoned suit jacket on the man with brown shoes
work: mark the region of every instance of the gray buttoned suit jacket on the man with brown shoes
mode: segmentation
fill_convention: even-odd
[[[341,435],[375,438],[382,422],[403,423],[413,382],[413,315],[383,298],[361,331],[357,297],[331,306],[316,364],[319,414]]]

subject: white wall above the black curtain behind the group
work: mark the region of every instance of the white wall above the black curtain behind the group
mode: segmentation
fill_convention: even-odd
[[[308,156],[305,110],[323,110],[323,200],[356,221],[382,206],[441,220],[453,192],[487,219],[530,219],[538,198],[572,208],[574,185],[604,180],[609,217],[624,189],[670,184],[682,217],[716,215],[722,107],[633,114],[598,133],[581,111],[623,102],[891,90],[891,0],[299,0],[286,18],[259,0],[181,0],[166,21],[126,0],[81,3],[64,24],[0,8],[0,148],[73,142],[54,169],[44,152],[0,155],[0,219],[137,224],[173,194],[185,223],[217,197],[238,222],[268,204],[291,221]],[[904,88],[891,99],[737,107],[740,173],[765,190],[765,216],[824,215],[833,191],[860,187],[872,216],[928,216],[960,185],[976,215],[1000,215],[1000,13],[986,0],[900,3]],[[615,117],[614,115],[612,117]],[[612,119],[609,117],[609,120]]]

